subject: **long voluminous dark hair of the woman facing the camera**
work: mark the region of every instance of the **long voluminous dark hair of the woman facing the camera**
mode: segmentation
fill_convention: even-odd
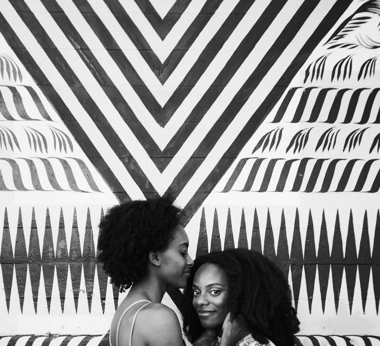
[[[183,330],[191,343],[204,331],[192,306],[194,275],[204,263],[217,264],[226,272],[231,318],[242,316],[254,339],[262,344],[269,339],[276,346],[295,345],[299,320],[284,274],[270,259],[244,249],[212,252],[194,260],[184,291],[187,312],[183,314]]]

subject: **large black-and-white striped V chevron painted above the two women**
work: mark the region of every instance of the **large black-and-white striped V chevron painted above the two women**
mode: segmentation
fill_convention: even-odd
[[[1,32],[120,198],[192,209],[348,4],[4,1]]]

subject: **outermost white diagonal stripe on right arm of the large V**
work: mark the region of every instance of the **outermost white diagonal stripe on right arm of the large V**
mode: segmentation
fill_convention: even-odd
[[[251,96],[249,97],[247,102],[244,104],[244,106],[241,108],[241,110],[238,112],[238,115],[232,121],[228,129],[220,136],[218,142],[216,143],[214,148],[210,151],[207,158],[200,165],[197,172],[195,172],[192,175],[192,177],[189,179],[187,185],[184,187],[184,189],[181,191],[181,193],[179,194],[177,198],[177,203],[179,203],[179,205],[185,206],[189,202],[190,198],[193,196],[193,191],[196,191],[200,187],[202,182],[207,178],[207,176],[214,169],[215,165],[218,163],[222,155],[229,148],[233,140],[237,138],[238,133],[245,126],[247,121],[250,119],[251,115],[254,113],[257,107],[261,104],[261,102],[264,101],[265,97],[267,96],[267,93],[263,92],[263,90],[265,89],[271,90],[276,85],[279,77],[282,76],[282,74],[285,72],[285,69],[288,67],[288,62],[293,60],[293,58],[298,53],[299,49],[310,37],[310,35],[312,35],[312,33],[316,30],[320,21],[329,12],[333,4],[334,4],[334,1],[322,0],[316,6],[315,10],[311,13],[311,15],[306,19],[305,23],[303,24],[301,29],[298,31],[298,33],[295,35],[292,42],[287,45],[283,54],[273,64],[271,70],[266,74],[266,76],[261,81],[260,85],[251,94]],[[287,8],[286,5],[290,6],[290,8]],[[288,13],[293,13],[291,9],[293,10],[298,9],[301,3],[298,2],[298,5],[297,5],[296,3],[287,1],[286,5],[283,8],[283,10],[285,9],[285,10],[290,11]],[[278,23],[279,22],[276,20],[276,26],[279,27],[280,25]],[[283,26],[281,27],[283,28]],[[254,52],[255,54],[257,54],[256,49],[254,49]],[[244,65],[244,63],[242,64],[242,66]],[[244,69],[244,72],[247,73],[245,69]],[[238,74],[236,74],[236,76],[237,75]],[[193,133],[194,132],[198,132],[197,129],[194,130]],[[183,146],[183,148],[184,147],[185,145]]]

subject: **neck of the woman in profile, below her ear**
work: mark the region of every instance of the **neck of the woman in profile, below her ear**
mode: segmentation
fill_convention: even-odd
[[[132,285],[128,296],[133,296],[136,299],[146,299],[149,302],[161,303],[166,289],[167,286],[161,285],[155,277],[147,275]]]

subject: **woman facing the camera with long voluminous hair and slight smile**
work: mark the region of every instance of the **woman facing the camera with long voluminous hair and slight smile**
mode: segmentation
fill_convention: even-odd
[[[184,294],[188,312],[183,329],[190,342],[205,330],[220,336],[230,316],[245,325],[236,346],[295,345],[299,321],[288,282],[258,252],[230,249],[196,258]]]

